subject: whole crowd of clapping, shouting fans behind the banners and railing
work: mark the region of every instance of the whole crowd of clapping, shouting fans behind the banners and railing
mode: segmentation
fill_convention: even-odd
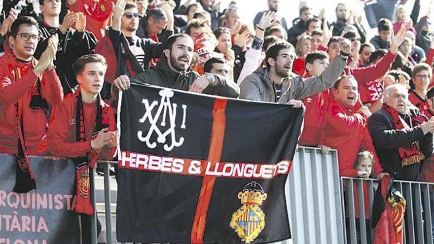
[[[236,1],[3,1],[0,152],[111,159],[118,90],[146,83],[303,106],[299,144],[336,148],[342,176],[433,182],[434,38],[419,0],[375,20],[375,36],[345,3],[331,23],[307,4],[287,23],[266,1],[252,23]],[[18,172],[15,190],[31,190]]]

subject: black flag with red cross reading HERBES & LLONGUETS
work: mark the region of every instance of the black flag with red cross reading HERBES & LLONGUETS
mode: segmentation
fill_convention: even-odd
[[[119,242],[290,238],[284,188],[303,109],[138,85],[120,97]]]

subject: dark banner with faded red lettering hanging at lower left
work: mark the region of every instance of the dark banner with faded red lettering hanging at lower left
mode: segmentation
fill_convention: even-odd
[[[0,154],[0,243],[80,244],[71,160],[29,157],[37,190],[12,192],[16,159]]]

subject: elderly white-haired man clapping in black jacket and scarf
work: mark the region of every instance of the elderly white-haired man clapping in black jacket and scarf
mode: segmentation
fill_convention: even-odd
[[[381,166],[395,179],[418,180],[421,162],[433,154],[434,119],[409,104],[402,85],[388,86],[384,102],[368,119]]]

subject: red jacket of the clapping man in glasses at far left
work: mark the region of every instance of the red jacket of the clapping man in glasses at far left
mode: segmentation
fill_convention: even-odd
[[[15,58],[6,51],[0,58],[0,152],[18,153],[18,126],[15,104],[23,99],[23,127],[26,153],[29,155],[46,154],[47,118],[43,109],[30,107],[31,88],[37,81],[32,71],[32,62],[18,62],[21,78],[15,81],[13,64]],[[63,89],[56,70],[42,73],[41,97],[49,105],[59,105],[63,100]]]

